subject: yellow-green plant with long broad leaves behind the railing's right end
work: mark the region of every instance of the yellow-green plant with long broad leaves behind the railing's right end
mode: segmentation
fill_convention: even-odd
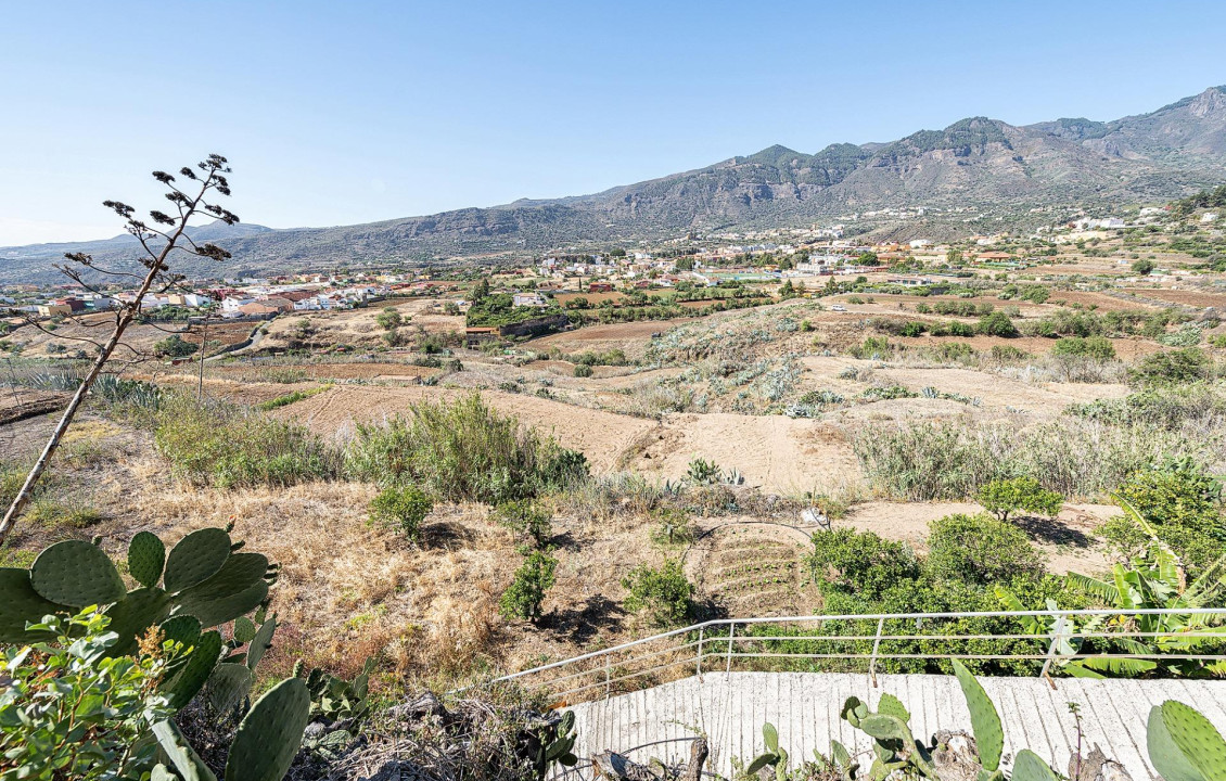
[[[1110,580],[1078,573],[1069,573],[1067,577],[1070,584],[1101,600],[1108,608],[1119,608],[1121,613],[1097,615],[1080,627],[1067,618],[1058,627],[1060,619],[1049,615],[1022,617],[1019,620],[1032,634],[1057,636],[1062,656],[1078,657],[1057,662],[1070,676],[1140,676],[1159,667],[1182,676],[1226,674],[1226,662],[1205,663],[1200,660],[1179,658],[1179,655],[1206,649],[1220,650],[1226,644],[1226,627],[1221,625],[1219,617],[1204,613],[1128,612],[1151,608],[1195,609],[1217,603],[1226,595],[1226,555],[1188,585],[1179,557],[1159,539],[1152,525],[1135,508],[1118,497],[1117,500],[1124,509],[1124,515],[1150,537],[1149,547],[1129,562],[1117,563]],[[1027,609],[1016,596],[1005,590],[998,589],[997,596],[1011,611]],[[1048,607],[1056,609],[1056,603],[1048,601]],[[1081,635],[1097,633],[1107,634],[1108,638],[1102,640],[1123,649],[1127,655],[1089,655],[1087,640]],[[1146,658],[1159,655],[1171,655],[1171,658]]]

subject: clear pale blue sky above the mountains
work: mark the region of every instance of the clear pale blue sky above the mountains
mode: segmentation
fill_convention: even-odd
[[[1226,83],[1220,1],[0,7],[0,245],[113,235],[212,151],[245,221],[347,224]]]

